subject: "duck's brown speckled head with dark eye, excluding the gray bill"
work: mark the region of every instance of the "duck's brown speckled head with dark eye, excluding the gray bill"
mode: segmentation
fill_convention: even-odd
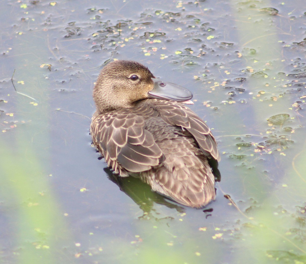
[[[144,65],[118,60],[107,64],[100,72],[93,89],[97,113],[132,107],[146,99],[154,87],[153,74]]]

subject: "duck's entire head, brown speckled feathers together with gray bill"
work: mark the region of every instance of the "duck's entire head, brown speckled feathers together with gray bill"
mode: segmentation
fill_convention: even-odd
[[[155,78],[138,62],[118,60],[101,70],[93,98],[97,111],[105,113],[132,107],[147,98],[183,102],[190,100],[192,93],[184,87]]]

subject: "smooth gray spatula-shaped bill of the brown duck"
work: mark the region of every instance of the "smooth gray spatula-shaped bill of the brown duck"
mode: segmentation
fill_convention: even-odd
[[[166,99],[171,101],[187,101],[192,98],[192,93],[177,84],[164,82],[157,78],[151,78],[154,82],[154,88],[148,92],[148,98]]]

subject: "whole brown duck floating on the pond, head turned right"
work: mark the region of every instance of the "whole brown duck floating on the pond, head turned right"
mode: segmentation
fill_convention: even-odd
[[[114,60],[93,89],[90,134],[113,173],[202,208],[215,200],[220,155],[209,127],[185,105],[191,98],[188,89],[156,78],[139,62]]]

